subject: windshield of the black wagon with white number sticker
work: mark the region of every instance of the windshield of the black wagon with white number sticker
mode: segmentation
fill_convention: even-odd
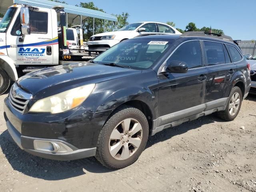
[[[125,65],[133,69],[150,68],[174,40],[134,39],[109,48],[92,61],[97,64]]]

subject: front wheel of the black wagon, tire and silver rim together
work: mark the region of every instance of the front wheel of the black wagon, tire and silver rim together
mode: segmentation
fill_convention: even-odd
[[[123,106],[104,124],[95,157],[107,168],[120,169],[129,166],[146,147],[148,132],[145,115],[136,108]]]

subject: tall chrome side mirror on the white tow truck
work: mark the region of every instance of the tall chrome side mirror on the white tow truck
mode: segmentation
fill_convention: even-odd
[[[22,37],[30,35],[30,22],[29,22],[29,9],[28,7],[22,7],[20,9],[20,22]]]

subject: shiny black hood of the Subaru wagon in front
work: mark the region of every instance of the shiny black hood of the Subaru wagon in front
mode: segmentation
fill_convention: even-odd
[[[32,93],[33,99],[38,100],[78,86],[97,84],[141,72],[141,70],[82,62],[31,72],[19,78],[17,84]]]

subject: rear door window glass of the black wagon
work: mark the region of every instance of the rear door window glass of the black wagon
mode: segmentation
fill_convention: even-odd
[[[226,63],[222,43],[204,41],[208,66]]]

